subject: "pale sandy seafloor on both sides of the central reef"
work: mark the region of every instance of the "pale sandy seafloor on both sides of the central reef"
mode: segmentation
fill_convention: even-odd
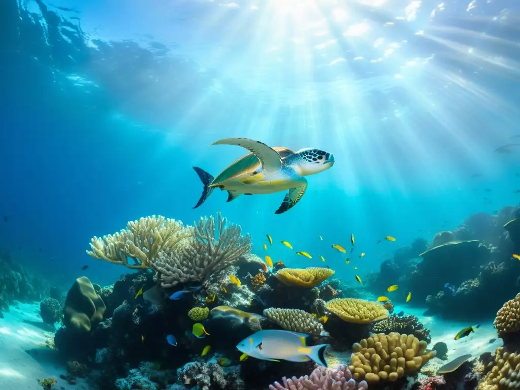
[[[395,307],[395,313],[401,310],[405,310],[406,314],[418,316],[426,328],[430,329],[430,347],[437,342],[444,342],[448,346],[448,360],[438,361],[438,366],[465,354],[478,357],[484,352],[495,352],[495,349],[502,345],[502,340],[497,337],[493,328],[492,318],[480,322],[480,327],[470,336],[455,341],[454,336],[457,332],[474,323],[426,317],[423,315],[424,308],[420,307]],[[81,379],[77,379],[76,384],[71,385],[59,377],[66,374],[66,360],[61,359],[59,353],[49,348],[46,343],[53,340],[54,334],[52,328],[42,322],[39,303],[11,306],[10,312],[4,313],[4,316],[5,318],[0,318],[0,388],[41,390],[38,379],[44,378],[55,378],[58,381],[56,389],[90,388]],[[496,340],[489,343],[491,339]],[[350,356],[349,353],[332,354],[340,361]]]

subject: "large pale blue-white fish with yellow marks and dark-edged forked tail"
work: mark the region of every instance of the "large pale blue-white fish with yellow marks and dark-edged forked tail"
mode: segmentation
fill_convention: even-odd
[[[327,367],[324,352],[329,344],[307,347],[307,337],[308,334],[287,330],[261,330],[246,337],[237,348],[240,352],[261,360],[314,360],[319,365]],[[262,346],[262,349],[258,346]]]

